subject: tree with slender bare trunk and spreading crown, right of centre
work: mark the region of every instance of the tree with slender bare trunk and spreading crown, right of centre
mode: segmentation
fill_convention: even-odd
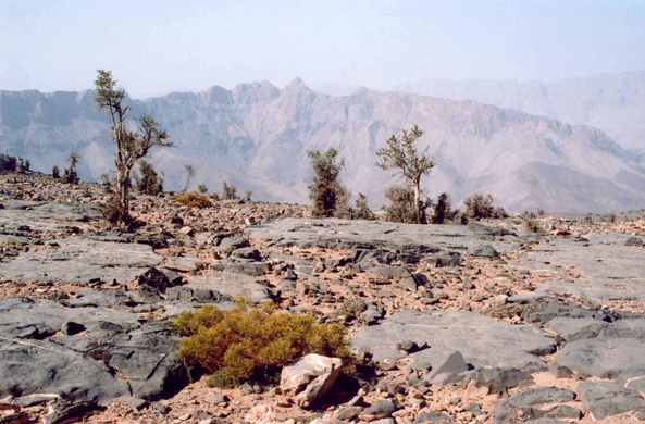
[[[396,170],[412,186],[417,223],[422,222],[421,176],[430,175],[430,171],[435,164],[432,158],[426,155],[427,148],[421,153],[418,151],[417,141],[423,134],[424,132],[414,125],[409,132],[404,129],[400,137],[393,134],[387,140],[387,147],[376,151],[376,155],[381,158],[376,162],[376,166],[384,171]]]

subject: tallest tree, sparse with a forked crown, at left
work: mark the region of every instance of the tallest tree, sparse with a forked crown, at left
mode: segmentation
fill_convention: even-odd
[[[111,136],[116,142],[115,188],[119,197],[119,221],[129,219],[129,174],[135,163],[145,158],[152,147],[171,147],[172,142],[165,141],[168,134],[158,129],[159,123],[152,119],[152,113],[135,117],[139,123],[136,130],[126,127],[126,120],[132,115],[132,108],[124,105],[125,89],[116,86],[109,71],[99,70],[95,80],[97,97],[95,98],[99,110],[107,109],[112,122]]]

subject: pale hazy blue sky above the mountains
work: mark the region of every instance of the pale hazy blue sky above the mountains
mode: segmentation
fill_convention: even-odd
[[[0,0],[0,89],[86,89],[97,68],[133,97],[637,71],[645,0]]]

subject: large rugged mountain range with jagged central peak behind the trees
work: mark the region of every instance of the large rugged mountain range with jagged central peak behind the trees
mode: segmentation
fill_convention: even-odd
[[[645,207],[643,170],[605,133],[489,104],[365,88],[333,97],[300,79],[282,90],[262,82],[127,100],[137,115],[151,111],[176,145],[151,159],[171,189],[184,186],[184,164],[193,164],[193,188],[219,190],[226,180],[255,199],[309,203],[307,151],[334,147],[346,161],[343,182],[380,207],[385,188],[401,180],[374,166],[375,151],[417,124],[437,163],[423,179],[425,195],[446,191],[460,203],[491,192],[496,204],[520,212]],[[114,149],[92,91],[0,91],[1,152],[50,172],[74,150],[82,177],[98,179],[113,167]]]

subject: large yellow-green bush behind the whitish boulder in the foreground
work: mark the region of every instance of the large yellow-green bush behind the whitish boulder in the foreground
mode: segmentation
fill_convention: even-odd
[[[207,305],[173,323],[184,338],[178,357],[218,381],[262,379],[296,358],[319,353],[349,363],[345,327],[318,324],[312,315],[287,313],[272,303],[251,308],[245,298],[231,311]]]

